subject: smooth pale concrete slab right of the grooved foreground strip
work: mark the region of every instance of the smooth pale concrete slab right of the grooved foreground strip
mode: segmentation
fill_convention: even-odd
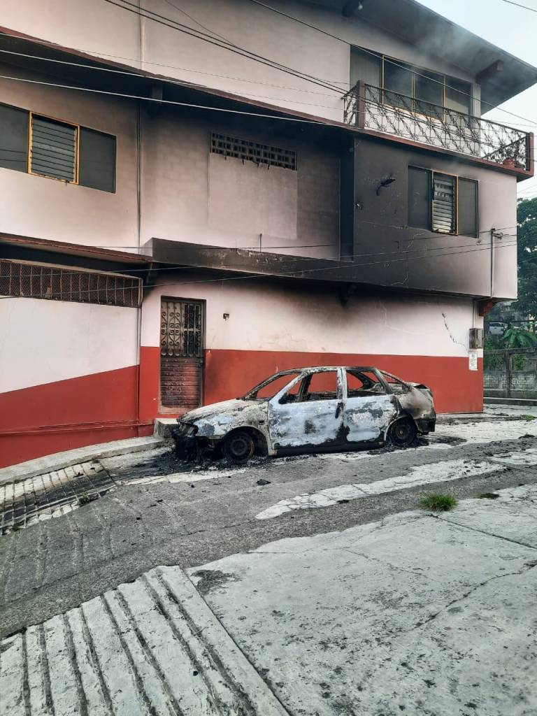
[[[534,716],[536,517],[531,485],[188,574],[289,713]]]

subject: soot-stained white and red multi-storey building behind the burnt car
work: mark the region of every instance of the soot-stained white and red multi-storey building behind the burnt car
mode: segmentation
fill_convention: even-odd
[[[0,463],[305,365],[482,410],[536,80],[414,0],[4,0]]]

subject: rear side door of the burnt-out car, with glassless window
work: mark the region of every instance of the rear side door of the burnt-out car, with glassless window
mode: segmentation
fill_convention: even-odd
[[[397,400],[376,370],[344,370],[344,429],[348,442],[382,440],[399,412]]]

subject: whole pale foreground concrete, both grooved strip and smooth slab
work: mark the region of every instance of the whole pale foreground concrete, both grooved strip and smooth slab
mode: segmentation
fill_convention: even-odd
[[[153,569],[0,642],[0,712],[535,716],[536,518],[531,485]]]

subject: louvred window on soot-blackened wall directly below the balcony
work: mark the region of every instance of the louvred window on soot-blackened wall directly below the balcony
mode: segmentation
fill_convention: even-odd
[[[478,182],[409,167],[408,224],[437,233],[479,236]]]

